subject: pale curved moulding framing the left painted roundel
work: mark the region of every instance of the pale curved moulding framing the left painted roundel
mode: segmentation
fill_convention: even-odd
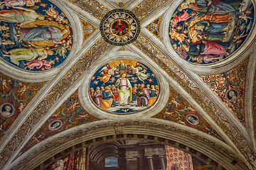
[[[13,77],[14,79],[18,79],[20,81],[41,82],[54,77],[56,74],[58,74],[58,72],[60,72],[60,70],[64,66],[67,66],[68,64],[73,62],[73,60],[75,60],[75,54],[78,52],[83,42],[83,38],[82,36],[80,36],[83,35],[82,24],[80,22],[80,19],[73,12],[73,10],[63,5],[60,1],[49,1],[58,6],[58,8],[60,8],[63,11],[63,13],[65,13],[65,16],[67,16],[73,28],[73,47],[70,51],[70,54],[63,63],[58,65],[58,67],[55,67],[48,71],[41,72],[33,72],[25,69],[20,69],[18,67],[15,67],[13,64],[10,64],[9,62],[6,62],[4,59],[0,57],[0,70],[2,73],[6,74],[9,77]]]

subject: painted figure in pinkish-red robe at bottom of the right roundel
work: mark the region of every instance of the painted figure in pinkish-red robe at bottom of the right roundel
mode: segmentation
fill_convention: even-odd
[[[183,44],[181,49],[186,51],[188,55],[230,55],[227,50],[230,49],[229,42],[200,40],[190,45]]]

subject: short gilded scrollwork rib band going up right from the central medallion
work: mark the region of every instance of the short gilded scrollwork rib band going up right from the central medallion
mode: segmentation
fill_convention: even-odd
[[[144,18],[147,14],[154,11],[155,8],[161,6],[167,0],[144,0],[138,6],[136,6],[132,12],[137,16],[139,20]]]

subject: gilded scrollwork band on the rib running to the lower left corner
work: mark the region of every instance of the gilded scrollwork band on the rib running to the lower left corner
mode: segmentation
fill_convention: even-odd
[[[110,47],[110,44],[105,42],[104,39],[98,40],[95,45],[92,45],[90,50],[88,50],[83,57],[76,62],[73,67],[65,74],[65,76],[58,81],[58,83],[53,87],[53,89],[48,93],[48,96],[41,101],[37,106],[35,111],[27,118],[26,122],[21,126],[21,128],[16,132],[14,137],[10,140],[6,149],[1,152],[2,158],[0,159],[0,169],[11,157],[11,154],[14,153],[18,145],[23,141],[24,137],[30,132],[33,127],[38,123],[43,115],[49,110],[55,101],[60,98],[60,96],[68,89],[68,87],[78,79],[78,77],[85,72],[85,70],[90,67],[92,62],[97,60],[98,57],[105,52],[107,48]],[[52,96],[52,97],[49,97]],[[47,98],[51,98],[50,101]]]

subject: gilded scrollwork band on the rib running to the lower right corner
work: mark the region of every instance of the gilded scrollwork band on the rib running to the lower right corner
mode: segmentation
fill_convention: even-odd
[[[250,146],[248,146],[245,140],[242,139],[242,136],[240,135],[238,130],[236,130],[233,125],[230,124],[230,121],[225,118],[225,115],[220,113],[218,108],[213,103],[211,103],[210,99],[204,94],[204,92],[200,88],[196,86],[196,84],[193,83],[193,81],[191,81],[185,74],[183,74],[183,72],[181,72],[181,70],[178,69],[178,67],[176,67],[174,63],[167,59],[167,57],[159,52],[159,50],[157,50],[154,45],[152,45],[141,35],[139,35],[137,41],[134,42],[134,45],[136,45],[140,50],[148,55],[151,60],[154,60],[156,64],[159,64],[159,66],[164,69],[171,77],[173,77],[174,80],[178,82],[178,84],[181,84],[181,86],[183,86],[188,94],[191,94],[191,96],[193,96],[196,101],[199,100],[198,103],[201,106],[202,103],[204,103],[205,106],[202,106],[202,108],[210,115],[211,118],[213,118],[213,120],[216,121],[216,123],[218,123],[220,128],[223,129],[226,135],[228,135],[228,137],[230,137],[230,139],[238,147],[240,152],[242,152],[242,154],[247,158],[247,162],[245,162],[247,166],[251,166],[252,164],[254,164],[250,158],[253,157],[253,159],[255,160],[256,154],[252,152]]]

